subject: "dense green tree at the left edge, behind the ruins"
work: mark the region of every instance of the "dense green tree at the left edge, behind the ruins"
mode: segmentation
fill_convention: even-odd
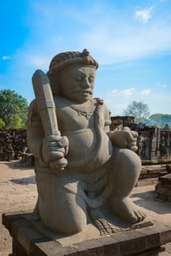
[[[18,115],[22,127],[26,127],[28,103],[25,98],[11,90],[0,91],[0,118],[9,127],[11,116]],[[11,127],[9,127],[11,128]]]

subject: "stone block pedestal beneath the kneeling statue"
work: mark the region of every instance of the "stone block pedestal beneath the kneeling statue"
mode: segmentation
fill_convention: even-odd
[[[67,246],[42,234],[26,214],[3,214],[2,222],[12,236],[12,256],[156,256],[171,241],[171,226],[160,222]]]

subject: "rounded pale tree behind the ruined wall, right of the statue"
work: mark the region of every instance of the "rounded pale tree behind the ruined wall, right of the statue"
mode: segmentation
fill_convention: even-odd
[[[145,123],[150,116],[149,107],[144,102],[133,101],[123,110],[125,116],[134,116],[136,123]]]

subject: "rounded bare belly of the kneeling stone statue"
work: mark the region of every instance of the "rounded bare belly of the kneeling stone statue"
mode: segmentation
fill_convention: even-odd
[[[68,167],[94,170],[110,159],[113,147],[104,130],[80,129],[66,135],[69,139]]]

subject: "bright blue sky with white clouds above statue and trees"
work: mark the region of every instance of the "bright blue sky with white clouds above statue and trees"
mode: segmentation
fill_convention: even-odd
[[[1,1],[0,90],[28,103],[31,76],[57,53],[87,48],[99,62],[94,97],[113,116],[133,100],[171,114],[170,0]]]

